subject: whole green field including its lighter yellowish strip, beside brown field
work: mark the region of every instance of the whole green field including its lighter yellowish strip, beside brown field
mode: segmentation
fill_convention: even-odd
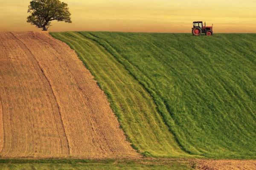
[[[145,156],[256,158],[256,34],[51,33]]]

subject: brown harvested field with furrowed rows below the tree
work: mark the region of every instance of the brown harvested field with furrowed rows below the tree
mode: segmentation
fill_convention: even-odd
[[[68,45],[6,32],[0,47],[0,157],[138,157]]]

